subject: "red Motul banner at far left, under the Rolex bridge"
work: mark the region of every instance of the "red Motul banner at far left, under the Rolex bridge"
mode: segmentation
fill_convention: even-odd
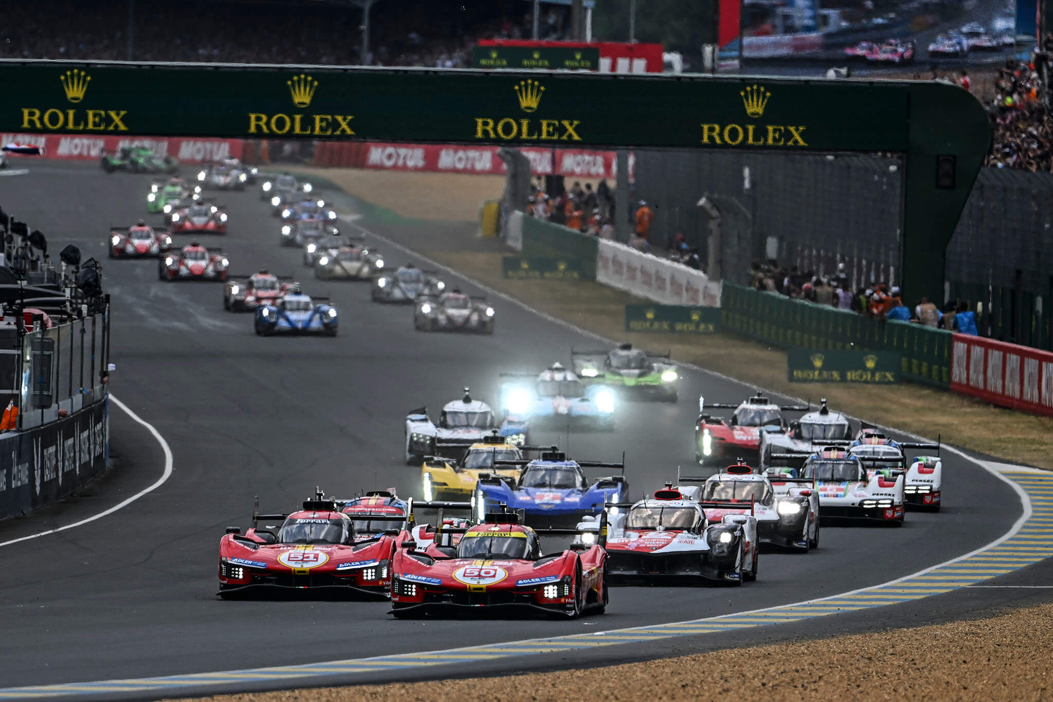
[[[42,154],[44,158],[72,160],[92,160],[102,156],[103,152],[113,153],[127,146],[145,146],[158,156],[174,156],[180,163],[208,163],[229,157],[240,159],[243,146],[241,139],[81,137],[56,134],[0,134],[0,142],[34,144],[44,149]]]

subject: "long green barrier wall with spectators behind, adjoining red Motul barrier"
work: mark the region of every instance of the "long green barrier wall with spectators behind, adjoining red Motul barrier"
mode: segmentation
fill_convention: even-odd
[[[908,322],[880,322],[843,309],[792,300],[724,282],[721,324],[729,332],[786,348],[870,348],[900,354],[906,380],[947,387],[951,333]]]

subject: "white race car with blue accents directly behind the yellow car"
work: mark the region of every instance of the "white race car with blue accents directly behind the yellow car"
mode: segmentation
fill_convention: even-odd
[[[438,424],[428,418],[428,407],[413,409],[405,417],[405,462],[420,463],[424,457],[438,456],[460,460],[472,444],[497,436],[513,443],[526,443],[526,437],[515,427],[498,425],[494,410],[480,400],[472,399],[468,387],[460,400],[442,406]]]

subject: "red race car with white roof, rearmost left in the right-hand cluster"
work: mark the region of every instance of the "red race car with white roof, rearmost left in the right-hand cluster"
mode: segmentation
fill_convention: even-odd
[[[731,420],[713,417],[707,409],[734,409]],[[783,412],[808,412],[808,405],[777,405],[762,395],[754,395],[739,404],[706,404],[698,398],[698,422],[695,424],[695,460],[699,463],[756,462],[760,452],[760,433],[766,426],[787,430]]]

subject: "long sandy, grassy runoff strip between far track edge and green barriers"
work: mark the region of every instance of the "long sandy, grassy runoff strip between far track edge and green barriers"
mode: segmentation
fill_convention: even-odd
[[[502,176],[394,173],[353,168],[297,168],[322,176],[350,195],[376,205],[373,218],[389,219],[410,235],[412,248],[475,280],[609,339],[624,339],[673,358],[760,387],[831,406],[869,422],[893,426],[1014,463],[1053,469],[1053,417],[994,407],[947,390],[903,383],[894,387],[837,383],[790,383],[786,353],[731,334],[686,338],[675,334],[629,334],[627,303],[647,302],[589,281],[518,281],[501,277],[501,257],[515,252],[481,240],[479,206],[498,197]],[[431,224],[419,221],[431,220]],[[441,220],[441,221],[436,221]],[[383,229],[378,229],[383,232]]]

